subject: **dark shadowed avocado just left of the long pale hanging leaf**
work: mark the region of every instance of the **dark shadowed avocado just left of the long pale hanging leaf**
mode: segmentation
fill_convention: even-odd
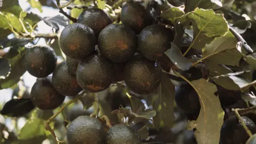
[[[188,114],[199,114],[201,109],[198,95],[190,84],[182,84],[175,90],[175,102]]]

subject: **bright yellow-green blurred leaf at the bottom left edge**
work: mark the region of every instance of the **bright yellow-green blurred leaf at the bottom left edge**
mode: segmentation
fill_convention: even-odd
[[[46,139],[44,121],[32,115],[22,127],[18,139],[19,143],[42,143]]]

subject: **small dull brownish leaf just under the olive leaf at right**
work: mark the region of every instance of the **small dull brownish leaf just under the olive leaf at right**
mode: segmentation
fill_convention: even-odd
[[[205,65],[209,69],[209,73],[212,76],[225,75],[225,74],[234,72],[231,69],[229,69],[228,67],[223,66],[223,65],[221,65],[219,63],[216,63],[214,61],[211,61],[211,60],[206,59],[203,62],[205,63]]]

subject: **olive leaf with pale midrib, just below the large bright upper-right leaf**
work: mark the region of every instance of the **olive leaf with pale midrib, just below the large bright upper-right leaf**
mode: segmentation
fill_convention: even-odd
[[[242,54],[236,49],[237,40],[228,31],[224,36],[215,37],[210,44],[203,48],[203,59],[223,65],[239,66]]]

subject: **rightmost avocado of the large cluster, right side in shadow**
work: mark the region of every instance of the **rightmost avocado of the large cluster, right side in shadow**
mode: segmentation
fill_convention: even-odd
[[[162,25],[150,25],[144,28],[138,38],[138,50],[149,60],[158,60],[171,48],[174,36],[170,29]]]

